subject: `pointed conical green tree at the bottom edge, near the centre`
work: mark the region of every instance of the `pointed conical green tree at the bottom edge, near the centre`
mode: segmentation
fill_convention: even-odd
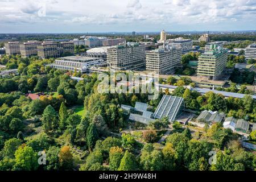
[[[125,155],[121,159],[118,171],[135,171],[137,164],[135,163],[134,155],[129,151],[125,151]]]

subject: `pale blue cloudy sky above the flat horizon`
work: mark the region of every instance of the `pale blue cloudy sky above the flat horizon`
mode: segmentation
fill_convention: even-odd
[[[256,0],[0,0],[0,33],[256,30]]]

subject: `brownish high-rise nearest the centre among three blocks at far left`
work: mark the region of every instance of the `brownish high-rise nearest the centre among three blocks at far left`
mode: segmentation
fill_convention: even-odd
[[[73,42],[43,42],[38,46],[38,56],[42,59],[60,57],[63,53],[74,53]]]

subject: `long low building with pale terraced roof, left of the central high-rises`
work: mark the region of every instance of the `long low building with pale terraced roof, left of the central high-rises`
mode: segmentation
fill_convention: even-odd
[[[106,62],[106,61],[105,61]],[[77,71],[81,73],[89,72],[89,68],[94,65],[104,64],[104,60],[86,56],[60,57],[50,64],[52,68]],[[105,63],[106,64],[106,63]]]

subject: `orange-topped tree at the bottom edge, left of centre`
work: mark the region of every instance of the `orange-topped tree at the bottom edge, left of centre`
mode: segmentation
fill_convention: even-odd
[[[69,146],[63,146],[60,149],[59,162],[61,169],[72,169],[73,168],[73,155],[71,154]]]

